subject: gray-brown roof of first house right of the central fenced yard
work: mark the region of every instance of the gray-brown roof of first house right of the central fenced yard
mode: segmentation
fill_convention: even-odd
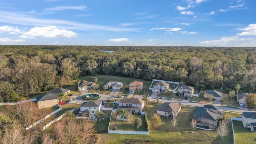
[[[157,110],[175,115],[180,110],[180,105],[171,102],[165,102]]]

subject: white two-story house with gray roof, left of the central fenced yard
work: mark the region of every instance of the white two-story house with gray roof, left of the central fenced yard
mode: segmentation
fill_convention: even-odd
[[[91,116],[96,112],[100,111],[102,105],[101,100],[93,100],[88,102],[83,102],[80,106],[80,116]]]

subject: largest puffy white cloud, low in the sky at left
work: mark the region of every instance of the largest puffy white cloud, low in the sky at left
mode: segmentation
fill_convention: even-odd
[[[59,30],[56,26],[47,26],[31,28],[24,35],[20,36],[20,38],[35,38],[36,36],[42,36],[44,38],[72,38],[76,35],[76,33],[70,30]]]

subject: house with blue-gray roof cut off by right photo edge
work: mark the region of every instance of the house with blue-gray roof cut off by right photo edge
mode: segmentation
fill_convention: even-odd
[[[256,112],[243,112],[242,123],[244,128],[250,128],[256,132]]]

